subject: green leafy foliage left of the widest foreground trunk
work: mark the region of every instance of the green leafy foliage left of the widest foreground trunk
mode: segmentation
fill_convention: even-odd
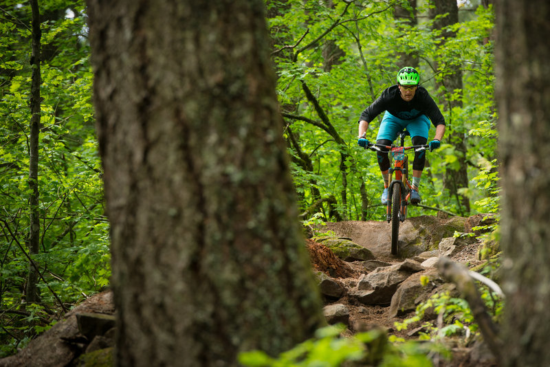
[[[91,105],[84,1],[41,2],[39,191],[41,302],[24,302],[29,269],[30,5],[8,1],[0,25],[1,355],[109,283],[109,226]]]

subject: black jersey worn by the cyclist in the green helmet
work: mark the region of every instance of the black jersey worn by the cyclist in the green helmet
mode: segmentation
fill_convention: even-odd
[[[434,126],[445,124],[445,118],[439,111],[439,107],[424,87],[418,87],[415,97],[407,102],[401,98],[397,85],[386,88],[369,107],[361,113],[361,120],[371,122],[380,113],[388,111],[396,118],[412,120],[419,115],[426,115]]]

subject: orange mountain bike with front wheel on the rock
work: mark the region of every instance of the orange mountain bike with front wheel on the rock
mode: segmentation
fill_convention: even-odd
[[[410,199],[410,190],[412,190],[412,183],[408,180],[408,156],[406,151],[411,149],[414,149],[415,152],[426,151],[430,147],[428,144],[404,146],[407,135],[409,133],[406,130],[399,133],[398,137],[401,140],[401,144],[398,146],[373,143],[369,143],[366,146],[371,151],[390,151],[393,158],[393,167],[389,170],[390,184],[388,186],[388,205],[386,206],[386,219],[388,223],[391,223],[392,255],[399,254],[399,223],[405,221],[407,218],[407,205]],[[395,178],[392,179],[394,173]]]

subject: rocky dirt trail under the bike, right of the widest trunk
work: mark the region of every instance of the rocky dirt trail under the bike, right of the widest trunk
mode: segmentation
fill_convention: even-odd
[[[399,256],[391,254],[391,227],[386,222],[346,221],[314,229],[307,241],[327,321],[346,324],[350,335],[384,329],[402,340],[416,340],[419,332],[428,333],[422,325],[433,322],[437,314],[425,316],[405,330],[396,328],[395,323],[411,318],[417,305],[435,293],[448,290],[452,296],[460,296],[456,287],[443,279],[437,264],[445,257],[469,269],[483,265],[485,260],[480,260],[479,254],[483,243],[474,236],[454,234],[472,233],[472,228],[492,220],[485,219],[483,215],[407,219],[399,229]],[[444,343],[452,360],[434,360],[434,366],[496,366],[479,337],[459,335]]]

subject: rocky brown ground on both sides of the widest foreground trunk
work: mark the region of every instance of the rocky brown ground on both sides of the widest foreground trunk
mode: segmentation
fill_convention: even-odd
[[[425,320],[406,330],[396,328],[395,322],[410,318],[420,302],[441,289],[458,296],[454,286],[439,274],[437,262],[445,256],[466,267],[481,265],[478,249],[482,243],[472,236],[454,234],[470,233],[484,219],[483,215],[407,219],[399,230],[399,257],[391,255],[391,227],[386,222],[344,221],[311,228],[306,245],[327,322],[346,324],[347,335],[377,328],[404,340],[416,339]],[[17,355],[0,359],[0,367],[89,366],[92,361],[94,366],[108,366],[114,312],[112,293],[98,293]],[[452,361],[434,360],[434,366],[496,366],[478,338],[466,335],[448,342]]]

